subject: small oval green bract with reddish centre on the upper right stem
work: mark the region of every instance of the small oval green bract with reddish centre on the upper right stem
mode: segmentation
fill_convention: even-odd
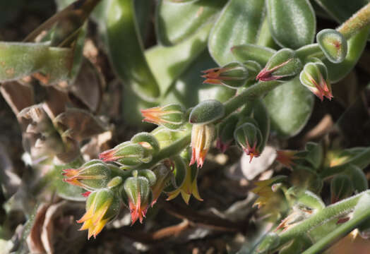
[[[326,58],[332,63],[341,63],[347,56],[347,40],[334,29],[324,29],[317,33],[316,40]]]

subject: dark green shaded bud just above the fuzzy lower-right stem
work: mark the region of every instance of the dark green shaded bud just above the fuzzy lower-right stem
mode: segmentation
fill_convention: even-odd
[[[330,193],[332,204],[350,197],[353,193],[351,179],[344,174],[334,176],[330,183]]]

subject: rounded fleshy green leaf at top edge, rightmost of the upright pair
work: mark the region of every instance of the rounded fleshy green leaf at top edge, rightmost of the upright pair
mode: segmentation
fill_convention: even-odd
[[[298,49],[314,42],[316,18],[309,0],[267,0],[268,23],[275,42]]]

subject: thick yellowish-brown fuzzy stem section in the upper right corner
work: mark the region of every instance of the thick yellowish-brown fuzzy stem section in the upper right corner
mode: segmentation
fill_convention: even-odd
[[[363,8],[361,8],[357,13],[342,23],[339,28],[337,28],[338,32],[342,33],[344,37],[348,40],[350,37],[355,35],[357,32],[362,30],[366,25],[370,24],[370,3],[366,4]]]

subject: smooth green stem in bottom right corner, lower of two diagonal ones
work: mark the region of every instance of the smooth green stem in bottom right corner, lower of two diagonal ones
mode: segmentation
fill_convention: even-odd
[[[342,236],[345,236],[353,229],[356,229],[359,224],[361,224],[368,218],[370,218],[369,206],[367,206],[367,209],[362,209],[362,212],[358,213],[357,216],[354,216],[352,219],[350,219],[350,221],[345,222],[345,224],[342,224],[334,231],[331,231],[327,236],[321,238],[321,240],[319,240],[309,249],[304,251],[304,253],[302,254],[323,253],[323,250],[326,250],[335,241],[338,241],[340,238],[342,238]]]

